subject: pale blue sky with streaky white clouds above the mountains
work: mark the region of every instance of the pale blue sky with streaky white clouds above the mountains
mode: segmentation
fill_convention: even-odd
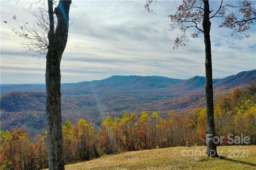
[[[190,38],[173,50],[180,31],[170,29],[170,19],[181,1],[158,1],[148,13],[145,1],[73,1],[69,13],[69,37],[61,61],[61,82],[100,80],[111,75],[159,75],[188,79],[205,75],[203,37]],[[219,1],[211,2],[217,6]],[[1,83],[44,83],[44,55],[25,53],[20,39],[3,21],[34,21],[18,4],[1,1]],[[224,78],[256,67],[256,27],[250,38],[230,36],[212,21],[213,78]]]

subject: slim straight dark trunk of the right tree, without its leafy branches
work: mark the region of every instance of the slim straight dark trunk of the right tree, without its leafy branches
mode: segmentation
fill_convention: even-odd
[[[203,18],[203,31],[204,31],[204,44],[205,44],[205,98],[207,109],[207,156],[217,157],[217,147],[213,143],[212,138],[215,136],[214,128],[214,108],[213,108],[213,87],[212,87],[212,55],[211,55],[211,39],[210,29],[211,22],[209,18],[210,8],[209,1],[204,2],[204,18]],[[210,138],[209,138],[210,137]]]

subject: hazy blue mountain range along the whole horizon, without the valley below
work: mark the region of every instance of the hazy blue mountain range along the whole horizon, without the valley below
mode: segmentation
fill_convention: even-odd
[[[256,79],[256,70],[243,71],[236,75],[230,75],[223,79],[213,79],[213,87],[218,89],[230,89],[249,84]],[[171,79],[159,76],[121,76],[114,75],[103,80],[84,81],[78,83],[61,84],[62,95],[82,95],[98,92],[133,92],[133,91],[161,91],[170,90],[198,90],[204,89],[205,77],[195,76],[188,80]],[[44,84],[1,84],[1,95],[12,91],[45,92]]]

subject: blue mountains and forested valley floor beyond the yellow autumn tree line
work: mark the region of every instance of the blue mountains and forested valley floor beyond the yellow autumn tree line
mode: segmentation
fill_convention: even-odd
[[[256,70],[240,72],[223,79],[214,79],[214,92],[230,92],[256,79]],[[124,112],[157,111],[163,117],[175,110],[190,112],[203,107],[205,77],[188,80],[157,76],[120,76],[79,83],[63,83],[62,120],[76,123],[79,118],[95,125],[107,116]],[[44,84],[1,84],[1,129],[25,128],[37,133],[46,128]],[[216,97],[216,95],[215,95]],[[31,122],[41,122],[40,128]]]

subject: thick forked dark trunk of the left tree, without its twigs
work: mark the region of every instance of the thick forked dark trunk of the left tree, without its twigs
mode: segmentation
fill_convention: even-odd
[[[48,123],[49,169],[64,169],[62,127],[61,127],[61,89],[60,62],[68,39],[69,7],[71,1],[60,0],[54,13],[57,16],[57,27],[54,32],[53,2],[48,1],[49,46],[46,55],[46,114]]]

